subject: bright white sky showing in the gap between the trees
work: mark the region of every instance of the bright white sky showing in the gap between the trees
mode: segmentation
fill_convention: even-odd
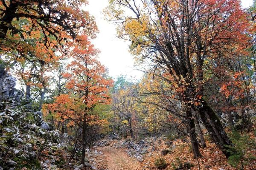
[[[104,20],[103,9],[107,7],[108,0],[88,0],[89,5],[86,10],[90,12],[95,18],[99,28],[99,34],[93,44],[99,48],[99,60],[109,69],[109,75],[113,78],[119,75],[127,75],[127,77],[134,77],[140,79],[141,71],[137,71],[134,67],[134,58],[129,53],[129,42],[125,42],[116,37],[116,26]],[[252,5],[253,0],[241,0],[244,8]]]

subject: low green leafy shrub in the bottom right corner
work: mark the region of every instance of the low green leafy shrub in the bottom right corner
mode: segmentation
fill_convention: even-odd
[[[231,156],[228,158],[230,165],[243,169],[244,164],[248,161],[256,159],[255,156],[246,155],[247,148],[256,147],[255,139],[251,139],[247,134],[241,135],[238,131],[233,130],[230,134],[234,146],[226,146]]]

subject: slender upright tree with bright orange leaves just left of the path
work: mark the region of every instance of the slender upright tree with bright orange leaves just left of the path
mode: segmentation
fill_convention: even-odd
[[[77,99],[84,104],[84,110],[79,116],[79,122],[82,122],[82,163],[85,158],[90,111],[97,104],[111,102],[108,91],[113,81],[108,79],[106,68],[97,60],[98,53],[86,35],[79,36],[77,44],[69,54],[73,59],[68,65],[70,72],[64,74],[68,79],[66,87],[72,89]]]

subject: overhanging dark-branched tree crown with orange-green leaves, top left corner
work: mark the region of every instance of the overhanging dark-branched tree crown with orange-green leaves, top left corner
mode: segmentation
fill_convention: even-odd
[[[55,51],[65,52],[64,44],[77,34],[95,37],[97,27],[93,17],[80,8],[86,3],[86,0],[1,0],[0,54],[6,56],[15,51],[19,58],[26,59],[34,55],[47,64],[58,58]],[[1,57],[0,92],[8,66]]]

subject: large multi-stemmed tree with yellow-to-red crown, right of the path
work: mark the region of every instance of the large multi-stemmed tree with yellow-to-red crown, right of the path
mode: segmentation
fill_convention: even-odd
[[[123,12],[130,10],[132,12]],[[204,99],[205,59],[228,57],[247,44],[246,14],[239,0],[112,0],[107,11],[120,24],[119,36],[130,40],[131,51],[150,59],[161,77],[177,82],[186,106],[189,129],[195,127],[192,111],[198,112],[220,150],[229,157],[232,145],[215,111]],[[190,132],[193,134],[193,132]],[[195,136],[191,136],[192,146]],[[194,153],[199,154],[194,145]]]

